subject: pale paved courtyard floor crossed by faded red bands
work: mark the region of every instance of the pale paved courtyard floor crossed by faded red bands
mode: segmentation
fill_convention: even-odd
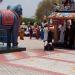
[[[44,51],[35,38],[19,40],[26,51],[0,54],[0,75],[75,75],[75,51]]]

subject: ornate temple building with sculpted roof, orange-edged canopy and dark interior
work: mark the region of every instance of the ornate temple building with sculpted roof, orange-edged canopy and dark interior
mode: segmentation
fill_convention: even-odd
[[[61,9],[60,9],[61,8]],[[61,0],[60,10],[48,18],[54,25],[54,42],[65,48],[75,48],[75,0]],[[59,43],[59,44],[58,44]]]

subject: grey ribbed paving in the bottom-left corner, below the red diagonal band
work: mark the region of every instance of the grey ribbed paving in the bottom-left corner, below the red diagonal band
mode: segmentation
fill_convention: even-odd
[[[40,72],[30,68],[0,63],[0,75],[52,75],[53,73]]]

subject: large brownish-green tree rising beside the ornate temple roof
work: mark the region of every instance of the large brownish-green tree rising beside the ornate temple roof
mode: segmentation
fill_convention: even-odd
[[[36,10],[36,17],[42,19],[43,16],[48,16],[53,11],[54,4],[59,4],[60,0],[43,0],[39,3]]]

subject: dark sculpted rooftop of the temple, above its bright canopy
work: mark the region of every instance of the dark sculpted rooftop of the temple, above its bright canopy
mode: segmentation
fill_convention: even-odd
[[[59,9],[56,11],[75,12],[75,0],[61,0],[59,4]]]

